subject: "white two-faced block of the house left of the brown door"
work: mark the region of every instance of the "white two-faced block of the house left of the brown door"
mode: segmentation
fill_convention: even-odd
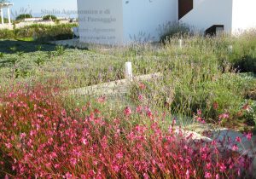
[[[158,41],[159,26],[177,21],[177,0],[78,0],[78,10],[80,41],[87,43]],[[102,17],[114,21],[90,20]]]

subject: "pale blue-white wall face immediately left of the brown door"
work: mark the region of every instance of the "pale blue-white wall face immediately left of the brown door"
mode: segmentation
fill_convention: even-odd
[[[158,41],[159,26],[177,21],[177,0],[123,0],[125,43]]]

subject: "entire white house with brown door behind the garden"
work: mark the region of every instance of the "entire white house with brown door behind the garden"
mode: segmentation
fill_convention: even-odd
[[[78,0],[85,43],[158,41],[159,27],[180,21],[197,31],[241,32],[256,27],[255,0]]]

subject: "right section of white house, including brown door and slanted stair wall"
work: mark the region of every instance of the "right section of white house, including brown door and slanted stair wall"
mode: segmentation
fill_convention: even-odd
[[[204,32],[236,34],[256,27],[255,0],[179,0],[179,21]]]

